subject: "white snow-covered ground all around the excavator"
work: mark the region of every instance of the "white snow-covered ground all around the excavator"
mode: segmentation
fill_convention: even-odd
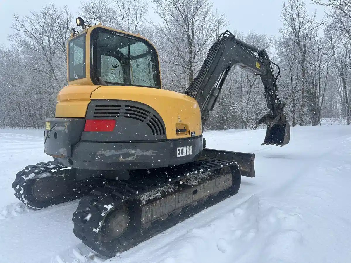
[[[256,177],[106,262],[351,262],[351,126],[294,127],[284,147],[260,146],[264,133],[205,133],[208,148],[255,153]],[[78,201],[31,211],[13,196],[16,171],[50,160],[42,131],[0,130],[0,145],[0,262],[103,262],[73,235]]]

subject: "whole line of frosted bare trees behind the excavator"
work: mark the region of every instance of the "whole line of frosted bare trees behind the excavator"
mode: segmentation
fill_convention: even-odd
[[[326,7],[323,20],[307,12],[304,0],[287,0],[277,38],[231,31],[266,49],[280,66],[279,96],[292,126],[319,125],[323,118],[350,124],[351,0],[312,2]],[[79,15],[152,41],[164,88],[178,92],[196,76],[219,34],[231,29],[209,0],[95,0],[93,7],[94,15],[91,3],[81,2]],[[159,23],[149,21],[150,8]],[[67,7],[54,4],[13,15],[11,45],[0,46],[0,127],[41,128],[54,115],[57,93],[67,85],[66,44],[74,19]],[[232,68],[206,128],[255,129],[266,112],[260,78]]]

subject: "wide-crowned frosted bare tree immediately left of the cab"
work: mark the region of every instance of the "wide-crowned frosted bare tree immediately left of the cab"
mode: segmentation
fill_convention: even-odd
[[[56,93],[67,83],[65,61],[71,32],[69,21],[72,21],[72,15],[67,7],[58,9],[53,4],[39,12],[31,12],[29,16],[13,15],[15,33],[8,39],[30,61],[25,65],[27,70],[43,77],[44,83],[37,83],[37,88]]]

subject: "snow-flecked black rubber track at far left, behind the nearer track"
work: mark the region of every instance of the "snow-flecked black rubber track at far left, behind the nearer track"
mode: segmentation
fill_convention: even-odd
[[[57,199],[54,199],[50,202],[40,202],[36,200],[31,201],[26,198],[26,196],[31,195],[31,193],[29,193],[31,189],[28,189],[27,186],[31,185],[31,183],[36,181],[40,176],[40,174],[49,173],[53,177],[64,176],[63,174],[62,175],[57,174],[57,171],[63,168],[67,168],[67,167],[62,166],[54,161],[50,161],[47,163],[40,162],[35,165],[26,166],[22,171],[19,171],[16,174],[15,180],[12,183],[12,188],[15,191],[14,193],[15,197],[18,198],[20,201],[22,201],[24,204],[26,204],[29,208],[34,210],[38,210],[43,207],[47,207],[49,205],[60,204],[67,201],[74,200],[76,197],[73,197],[73,196],[60,196]],[[57,170],[57,171],[53,171],[53,170]],[[45,203],[45,205],[41,206],[40,203]]]

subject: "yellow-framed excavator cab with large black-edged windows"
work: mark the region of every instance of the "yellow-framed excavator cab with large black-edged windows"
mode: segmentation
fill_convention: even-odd
[[[157,52],[149,41],[102,26],[91,29],[69,40],[69,85],[161,88]]]

